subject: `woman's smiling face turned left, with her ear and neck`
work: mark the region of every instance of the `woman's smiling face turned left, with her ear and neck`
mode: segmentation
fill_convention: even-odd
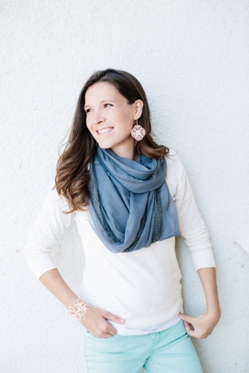
[[[85,94],[87,128],[103,149],[133,159],[134,139],[130,132],[142,113],[143,102],[129,104],[108,82],[95,83]]]

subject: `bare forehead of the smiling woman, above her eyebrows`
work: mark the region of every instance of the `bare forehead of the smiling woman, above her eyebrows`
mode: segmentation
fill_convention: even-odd
[[[125,97],[109,82],[98,82],[88,88],[85,94],[85,102],[106,99],[122,100]]]

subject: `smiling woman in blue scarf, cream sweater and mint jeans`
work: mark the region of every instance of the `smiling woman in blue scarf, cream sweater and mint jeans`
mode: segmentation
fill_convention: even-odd
[[[25,245],[30,268],[84,326],[85,372],[200,373],[190,336],[206,338],[220,318],[212,248],[188,178],[150,131],[140,83],[119,70],[93,74]],[[79,294],[49,257],[73,218],[86,258]],[[198,317],[183,314],[180,233],[207,301]]]

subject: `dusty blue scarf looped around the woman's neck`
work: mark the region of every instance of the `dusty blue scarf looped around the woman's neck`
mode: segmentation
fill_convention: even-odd
[[[133,161],[98,146],[89,172],[93,229],[110,251],[131,252],[180,234],[164,157]]]

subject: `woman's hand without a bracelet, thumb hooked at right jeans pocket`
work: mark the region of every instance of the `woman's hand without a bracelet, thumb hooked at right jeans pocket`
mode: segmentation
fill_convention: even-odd
[[[218,323],[221,313],[215,315],[187,316],[184,313],[179,313],[179,317],[184,321],[185,329],[190,337],[197,339],[207,338]]]

